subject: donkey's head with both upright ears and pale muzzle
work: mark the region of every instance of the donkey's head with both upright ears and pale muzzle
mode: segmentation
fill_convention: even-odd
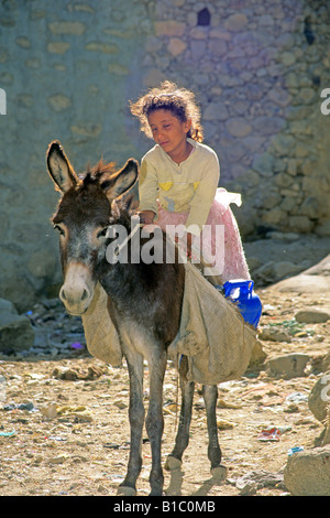
[[[59,231],[64,284],[59,298],[70,314],[84,314],[94,296],[95,268],[105,257],[111,204],[138,179],[138,163],[131,159],[114,172],[113,163],[99,162],[77,176],[58,141],[50,144],[47,169],[63,196],[53,217]]]

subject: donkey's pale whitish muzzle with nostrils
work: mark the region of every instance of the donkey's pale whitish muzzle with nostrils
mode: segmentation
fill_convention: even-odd
[[[65,282],[59,290],[59,299],[72,315],[82,315],[89,307],[94,295],[94,283],[88,268],[79,262],[72,262],[65,274]]]

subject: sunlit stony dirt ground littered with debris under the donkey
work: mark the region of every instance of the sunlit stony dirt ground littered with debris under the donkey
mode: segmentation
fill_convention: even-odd
[[[262,326],[292,323],[290,342],[263,342],[267,357],[305,353],[319,358],[329,353],[329,325],[296,326],[300,307],[321,306],[322,294],[275,293],[258,290]],[[305,376],[272,377],[262,363],[237,381],[219,386],[217,418],[222,464],[228,477],[218,482],[207,458],[207,424],[200,387],[194,402],[190,443],[182,468],[165,471],[165,494],[235,496],[237,479],[251,471],[283,473],[288,450],[309,449],[322,425],[308,409],[307,397],[318,379],[316,363]],[[129,455],[129,379],[125,366],[112,368],[88,354],[70,357],[12,360],[1,357],[0,376],[0,495],[114,496],[125,474]],[[147,404],[147,366],[145,402]],[[70,379],[65,379],[70,378]],[[168,365],[164,385],[164,464],[176,433],[177,375]],[[22,407],[23,404],[23,407]],[[21,406],[21,407],[20,407]],[[268,427],[280,431],[278,441],[261,441]],[[144,433],[143,470],[138,495],[148,494],[150,444]],[[257,489],[258,496],[286,493],[283,483]]]

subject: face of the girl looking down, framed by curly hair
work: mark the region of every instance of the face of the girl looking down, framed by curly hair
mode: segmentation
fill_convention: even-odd
[[[187,132],[191,121],[182,122],[170,110],[157,109],[150,114],[148,123],[154,141],[169,154],[170,158],[186,153]]]

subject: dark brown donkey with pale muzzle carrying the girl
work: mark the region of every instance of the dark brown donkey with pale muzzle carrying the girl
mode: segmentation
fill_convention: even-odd
[[[52,222],[59,231],[59,250],[64,283],[59,291],[67,312],[84,315],[99,282],[108,294],[108,311],[118,332],[130,376],[129,419],[131,447],[128,471],[118,488],[119,495],[135,495],[142,468],[143,361],[150,369],[150,404],[145,420],[152,450],[151,495],[162,495],[164,476],[161,442],[164,429],[163,382],[167,348],[175,339],[180,322],[185,285],[185,267],[176,258],[166,263],[110,263],[106,250],[110,224],[120,223],[130,231],[130,212],[118,212],[118,201],[138,180],[139,166],[130,159],[114,171],[114,164],[100,161],[85,174],[77,175],[58,141],[51,142],[47,170],[62,193]],[[139,231],[141,229],[139,228]],[[163,235],[165,239],[165,235]],[[147,238],[141,239],[141,244]],[[112,241],[113,242],[113,241]],[[128,246],[130,242],[128,242]],[[130,255],[128,256],[130,257]],[[182,409],[175,446],[167,461],[180,463],[188,445],[194,381],[185,379],[186,358],[180,361]],[[220,466],[221,450],[216,422],[217,386],[205,386],[211,468]],[[168,467],[173,465],[168,462]]]

